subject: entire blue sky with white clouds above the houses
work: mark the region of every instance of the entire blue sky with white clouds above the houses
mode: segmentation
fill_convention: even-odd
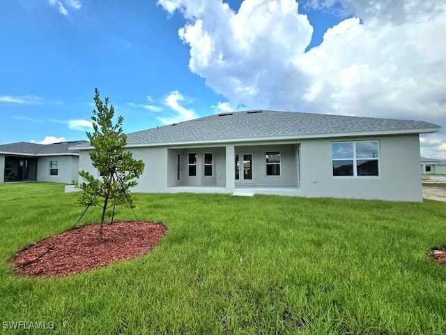
[[[442,2],[3,0],[0,144],[86,139],[95,87],[128,133],[254,108],[445,126]]]

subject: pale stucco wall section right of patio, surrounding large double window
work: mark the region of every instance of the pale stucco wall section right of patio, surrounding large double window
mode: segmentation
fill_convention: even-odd
[[[336,139],[379,140],[378,177],[333,177],[332,140],[307,140],[300,149],[301,189],[307,197],[422,201],[418,135]]]

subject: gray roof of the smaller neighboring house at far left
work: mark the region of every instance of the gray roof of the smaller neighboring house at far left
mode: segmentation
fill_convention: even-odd
[[[88,141],[68,141],[52,144],[38,144],[30,142],[17,142],[0,145],[0,154],[22,154],[24,156],[45,156],[65,154],[73,155],[79,153],[77,150],[68,150],[69,147],[78,144],[89,144]]]

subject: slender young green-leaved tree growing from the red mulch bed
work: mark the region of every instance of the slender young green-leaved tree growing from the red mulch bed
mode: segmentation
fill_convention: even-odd
[[[109,106],[109,98],[105,98],[102,103],[96,88],[94,101],[96,109],[91,117],[93,133],[87,132],[86,135],[95,148],[90,152],[92,165],[102,177],[96,179],[90,172],[82,170],[79,176],[85,181],[75,184],[82,189],[81,204],[102,207],[99,230],[99,241],[102,242],[107,208],[117,204],[127,204],[134,208],[130,187],[137,185],[134,179],[139,178],[144,171],[144,163],[133,159],[132,153],[125,151],[127,136],[122,128],[124,119],[118,116],[116,124],[113,124],[114,107]]]

